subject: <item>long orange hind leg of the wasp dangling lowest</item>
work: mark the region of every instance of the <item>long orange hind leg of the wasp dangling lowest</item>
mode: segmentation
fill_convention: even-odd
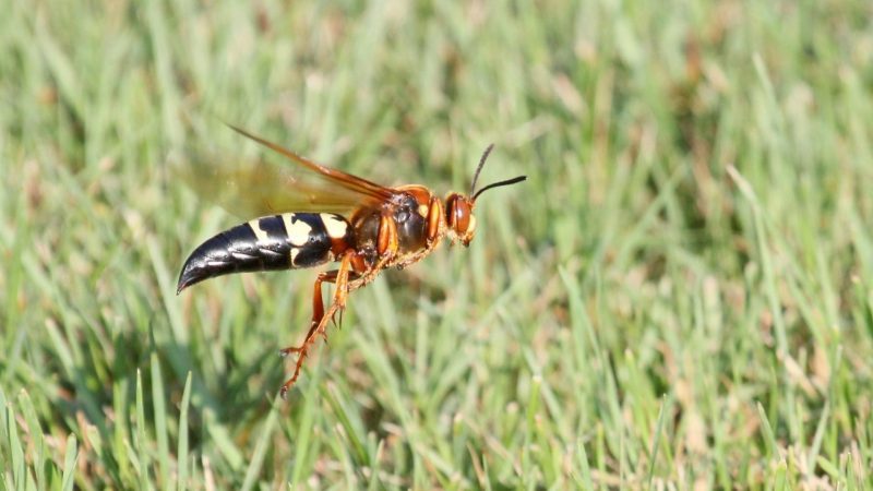
[[[300,346],[288,347],[280,351],[283,356],[291,352],[298,355],[294,374],[282,385],[279,394],[283,398],[285,398],[285,395],[288,393],[288,390],[294,385],[294,383],[297,382],[297,378],[300,376],[300,370],[303,368],[303,360],[306,360],[309,348],[312,347],[316,336],[321,335],[325,338],[325,340],[327,339],[327,322],[333,319],[337,311],[342,312],[343,309],[346,308],[346,300],[348,299],[349,292],[356,289],[350,288],[351,284],[349,283],[350,275],[358,276],[358,273],[351,271],[354,256],[354,251],[345,254],[343,256],[343,261],[339,263],[339,270],[322,273],[315,280],[315,295],[313,296],[312,300],[312,325],[309,327],[309,332],[307,333],[307,336]],[[334,300],[327,311],[324,310],[324,303],[321,298],[321,286],[324,282],[336,284]]]

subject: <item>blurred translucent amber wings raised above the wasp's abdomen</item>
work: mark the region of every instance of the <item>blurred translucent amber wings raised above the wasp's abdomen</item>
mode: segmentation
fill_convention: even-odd
[[[201,155],[179,169],[198,194],[241,218],[285,212],[345,215],[358,207],[376,207],[395,194],[374,182],[315,164],[246,130],[230,128],[291,161],[282,165],[261,158],[231,166],[218,155]]]

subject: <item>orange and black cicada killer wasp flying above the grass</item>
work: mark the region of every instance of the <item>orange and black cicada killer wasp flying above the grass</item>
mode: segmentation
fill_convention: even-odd
[[[382,270],[403,268],[421,261],[442,239],[468,246],[476,233],[476,200],[489,189],[524,181],[525,176],[494,182],[476,191],[479,172],[491,153],[479,160],[470,194],[450,193],[441,200],[418,184],[386,188],[367,179],[319,165],[283,146],[232,127],[238,133],[285,156],[292,165],[265,161],[247,173],[220,167],[211,179],[227,189],[212,190],[236,214],[256,216],[206,240],[188,258],[177,294],[214,276],[240,272],[298,270],[338,262],[319,274],[312,292],[312,321],[299,346],[280,350],[297,355],[294,374],[282,396],[300,375],[318,336],[346,307],[348,296],[375,279]],[[224,172],[224,173],[223,173]],[[196,183],[194,183],[196,185]],[[327,309],[322,285],[336,286]]]

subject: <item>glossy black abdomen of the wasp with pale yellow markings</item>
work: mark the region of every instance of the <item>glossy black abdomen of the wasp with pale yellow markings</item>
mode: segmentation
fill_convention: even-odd
[[[182,266],[177,294],[213,276],[318,266],[355,247],[351,227],[332,213],[256,218],[203,242]]]

